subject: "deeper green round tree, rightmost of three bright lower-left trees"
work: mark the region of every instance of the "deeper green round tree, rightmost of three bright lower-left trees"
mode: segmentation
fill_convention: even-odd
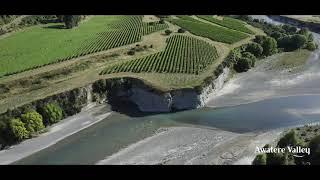
[[[46,104],[42,109],[45,124],[54,124],[63,118],[63,110],[56,103]]]

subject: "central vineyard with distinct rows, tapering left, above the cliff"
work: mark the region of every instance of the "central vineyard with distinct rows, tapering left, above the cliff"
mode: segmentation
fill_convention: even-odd
[[[164,51],[110,66],[101,74],[119,72],[199,74],[217,58],[217,50],[209,43],[186,35],[174,35],[167,39]]]

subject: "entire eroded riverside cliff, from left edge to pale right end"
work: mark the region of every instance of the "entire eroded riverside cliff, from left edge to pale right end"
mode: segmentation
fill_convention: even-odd
[[[195,109],[204,106],[210,96],[214,96],[223,87],[229,74],[229,68],[224,68],[223,72],[205,86],[201,92],[194,88],[160,92],[146,85],[140,79],[129,77],[99,80],[84,87],[22,105],[2,115],[8,114],[6,115],[8,117],[19,115],[25,109],[38,109],[53,101],[58,102],[64,109],[66,117],[99,103],[107,102],[112,105],[113,102],[119,101],[134,103],[142,112],[172,112]],[[4,117],[2,115],[0,115],[0,119]]]

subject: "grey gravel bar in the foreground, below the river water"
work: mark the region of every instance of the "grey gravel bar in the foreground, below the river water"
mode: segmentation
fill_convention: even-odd
[[[172,127],[97,164],[250,164],[256,146],[270,143],[280,132],[238,134],[202,127]]]

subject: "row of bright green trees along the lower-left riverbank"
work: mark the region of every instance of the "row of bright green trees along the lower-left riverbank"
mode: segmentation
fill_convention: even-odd
[[[60,121],[63,110],[57,103],[48,103],[39,112],[34,109],[27,110],[8,123],[0,122],[0,136],[10,136],[13,141],[22,141],[41,132],[45,126]]]

